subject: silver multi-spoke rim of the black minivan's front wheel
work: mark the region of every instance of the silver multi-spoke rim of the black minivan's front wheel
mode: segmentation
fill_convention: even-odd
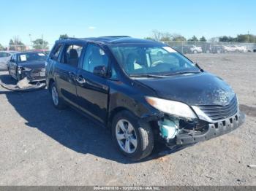
[[[119,147],[127,153],[135,152],[138,139],[132,124],[127,120],[119,120],[116,124],[116,139]]]

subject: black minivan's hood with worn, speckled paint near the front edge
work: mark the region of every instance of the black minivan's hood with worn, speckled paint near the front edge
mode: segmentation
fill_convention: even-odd
[[[208,72],[136,80],[155,90],[160,98],[181,101],[190,106],[225,106],[235,96],[232,88],[226,82]]]

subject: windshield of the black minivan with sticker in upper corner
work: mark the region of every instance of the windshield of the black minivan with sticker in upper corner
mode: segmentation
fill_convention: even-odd
[[[130,76],[200,72],[192,61],[164,44],[114,44],[110,50]]]

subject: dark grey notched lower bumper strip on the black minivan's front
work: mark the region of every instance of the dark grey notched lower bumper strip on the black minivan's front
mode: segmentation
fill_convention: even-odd
[[[222,136],[225,133],[229,133],[232,130],[235,130],[240,125],[244,123],[245,114],[239,112],[233,117],[227,118],[220,122],[208,124],[208,130],[199,134],[178,134],[176,135],[176,144],[195,144],[200,141],[206,141],[217,136]]]

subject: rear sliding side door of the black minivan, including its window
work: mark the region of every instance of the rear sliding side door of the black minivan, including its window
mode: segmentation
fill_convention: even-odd
[[[65,43],[61,51],[61,57],[56,63],[57,86],[61,97],[74,106],[79,107],[76,93],[76,74],[78,63],[83,50],[83,44],[69,42]]]

